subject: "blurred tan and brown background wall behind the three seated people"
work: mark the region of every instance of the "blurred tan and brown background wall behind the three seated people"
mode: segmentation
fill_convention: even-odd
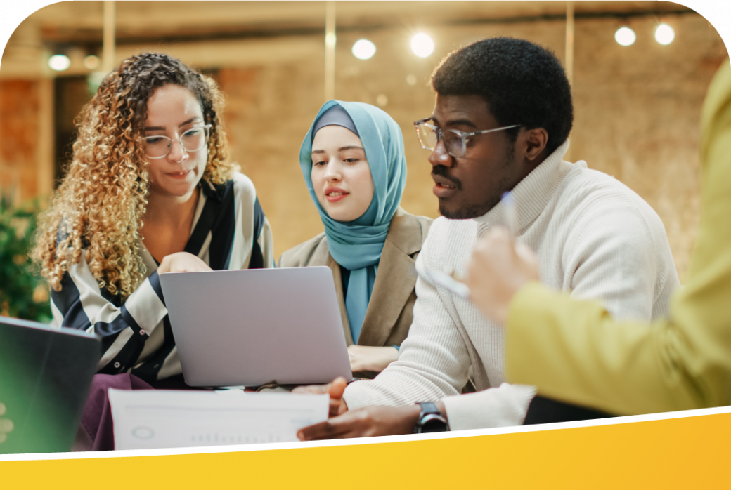
[[[336,9],[335,97],[379,105],[401,125],[409,164],[402,206],[410,213],[438,215],[428,152],[413,121],[431,114],[428,79],[444,55],[505,35],[537,42],[566,61],[564,0],[118,0],[114,64],[154,50],[218,80],[227,95],[232,156],[257,186],[277,257],[322,231],[298,153],[325,102],[328,1]],[[0,188],[14,188],[18,201],[48,196],[63,175],[74,118],[104,74],[103,4],[64,0],[42,7],[4,48]],[[672,1],[569,0],[569,9],[572,4],[569,159],[614,175],[654,207],[682,277],[699,213],[700,107],[713,73],[729,57],[727,46],[713,19]],[[660,23],[675,32],[668,45],[654,37]],[[623,26],[635,31],[634,44],[616,41]],[[417,33],[433,39],[431,55],[412,52]],[[376,46],[366,60],[352,54],[364,38]],[[52,55],[66,56],[67,68],[51,69]]]

